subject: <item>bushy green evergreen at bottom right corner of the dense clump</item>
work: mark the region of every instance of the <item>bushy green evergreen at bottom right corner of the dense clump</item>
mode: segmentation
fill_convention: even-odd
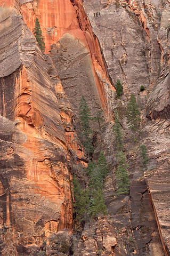
[[[94,198],[91,198],[90,213],[92,217],[98,217],[100,214],[107,214],[103,192],[100,188],[95,191]]]

